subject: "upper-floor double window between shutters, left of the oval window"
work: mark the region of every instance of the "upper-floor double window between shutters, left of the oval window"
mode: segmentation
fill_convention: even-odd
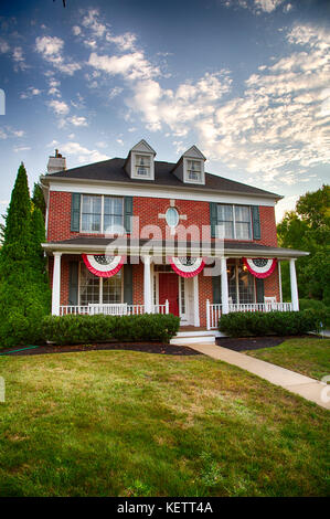
[[[124,225],[124,199],[83,194],[81,222],[81,232],[120,234]]]

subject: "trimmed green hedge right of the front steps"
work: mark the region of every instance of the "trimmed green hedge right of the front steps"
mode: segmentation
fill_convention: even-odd
[[[224,315],[219,321],[219,330],[232,337],[246,336],[297,336],[309,331],[320,331],[330,317],[329,310],[300,311],[237,311]]]

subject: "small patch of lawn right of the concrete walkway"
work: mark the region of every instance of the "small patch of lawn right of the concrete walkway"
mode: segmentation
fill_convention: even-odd
[[[290,339],[273,348],[245,353],[321,380],[330,374],[330,339]]]

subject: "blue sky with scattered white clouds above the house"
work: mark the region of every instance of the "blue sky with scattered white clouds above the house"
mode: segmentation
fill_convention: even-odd
[[[0,212],[21,161],[32,187],[55,148],[75,167],[141,138],[284,194],[277,218],[329,182],[327,0],[2,0],[0,28]]]

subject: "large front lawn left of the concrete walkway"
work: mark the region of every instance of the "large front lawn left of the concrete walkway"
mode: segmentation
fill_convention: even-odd
[[[1,496],[326,496],[329,415],[201,357],[0,357]]]

